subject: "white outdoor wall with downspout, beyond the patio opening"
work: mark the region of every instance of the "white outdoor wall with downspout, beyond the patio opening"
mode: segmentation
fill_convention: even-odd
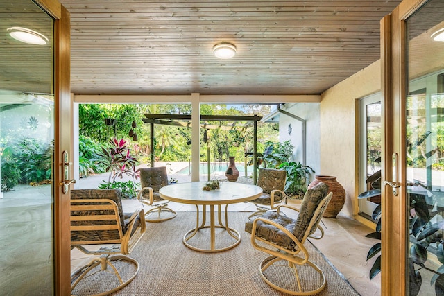
[[[305,119],[305,132],[306,132],[306,150],[305,150],[305,165],[311,166],[316,173],[321,169],[320,164],[320,150],[319,150],[319,110],[320,103],[296,103],[291,105],[285,111],[294,114],[301,119]],[[289,134],[289,124],[291,124],[291,134]],[[279,121],[279,141],[290,140],[294,150],[294,161],[302,162],[302,122],[297,119],[293,119],[286,114],[280,114]],[[311,176],[314,179],[314,174]]]

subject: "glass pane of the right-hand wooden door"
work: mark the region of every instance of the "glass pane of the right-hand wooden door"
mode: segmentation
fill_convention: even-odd
[[[444,3],[407,19],[406,184],[409,295],[444,293]]]

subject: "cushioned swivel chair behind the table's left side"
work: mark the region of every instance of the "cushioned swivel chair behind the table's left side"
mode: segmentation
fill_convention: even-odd
[[[145,214],[148,222],[162,222],[176,217],[176,211],[167,207],[169,201],[159,195],[159,189],[168,185],[167,167],[140,168],[142,190],[137,193],[137,200],[151,207]]]

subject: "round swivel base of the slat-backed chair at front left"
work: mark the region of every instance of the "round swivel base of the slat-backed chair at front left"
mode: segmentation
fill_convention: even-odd
[[[128,261],[128,262],[134,264],[136,270],[135,270],[133,276],[131,276],[126,281],[124,281],[119,273],[119,270],[117,270],[117,268],[112,263],[112,261]],[[75,272],[72,273],[72,275],[71,275],[71,295],[72,296],[74,296],[73,290],[76,288],[76,286],[80,283],[80,281],[82,279],[85,279],[86,277],[92,276],[96,273],[96,272],[94,272],[92,274],[89,274],[89,272],[91,270],[93,270],[94,268],[96,268],[98,265],[101,265],[101,270],[99,272],[101,272],[101,271],[109,272],[108,266],[110,266],[112,268],[112,273],[114,273],[114,275],[119,280],[119,286],[117,286],[111,290],[103,291],[99,294],[94,294],[92,296],[109,295],[109,294],[114,293],[118,290],[121,290],[123,287],[130,284],[130,282],[133,281],[133,279],[136,277],[137,272],[139,272],[139,263],[135,259],[130,258],[128,256],[124,256],[124,255],[110,256],[110,254],[103,254],[100,257],[96,257],[96,258],[92,259],[92,261],[90,261],[87,265],[84,265],[82,268],[79,268],[78,270],[76,270]]]

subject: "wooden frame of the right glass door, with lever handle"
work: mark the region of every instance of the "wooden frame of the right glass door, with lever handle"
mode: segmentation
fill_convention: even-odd
[[[381,295],[407,295],[406,20],[427,0],[404,0],[381,21],[382,182],[393,181],[393,153],[398,154],[398,195],[382,186]]]

